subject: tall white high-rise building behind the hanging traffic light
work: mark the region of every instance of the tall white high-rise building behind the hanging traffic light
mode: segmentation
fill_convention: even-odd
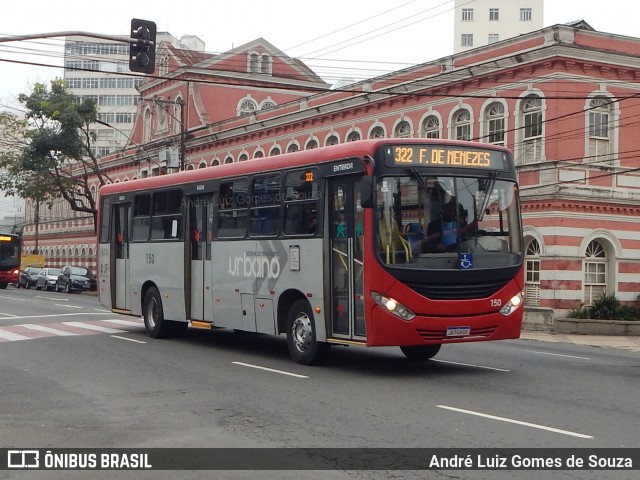
[[[118,36],[126,39],[126,36]],[[204,51],[204,42],[188,35],[180,40],[158,32],[158,45],[168,42],[177,48]],[[129,70],[129,44],[89,37],[67,37],[64,51],[64,80],[78,101],[90,98],[98,106],[95,125],[95,154],[104,156],[124,149],[133,128],[144,76]],[[156,72],[156,75],[158,72]]]

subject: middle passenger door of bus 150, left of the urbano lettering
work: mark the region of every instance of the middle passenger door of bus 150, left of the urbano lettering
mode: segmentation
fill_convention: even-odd
[[[211,321],[211,236],[213,200],[208,195],[189,197],[192,320]],[[208,313],[205,316],[205,313]]]

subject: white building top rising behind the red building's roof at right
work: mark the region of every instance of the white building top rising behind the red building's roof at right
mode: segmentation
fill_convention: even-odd
[[[454,53],[542,28],[544,0],[456,0]]]

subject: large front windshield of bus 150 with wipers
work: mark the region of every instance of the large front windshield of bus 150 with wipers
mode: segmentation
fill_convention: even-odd
[[[521,262],[521,225],[514,182],[484,177],[427,176],[415,169],[377,184],[378,256],[388,265],[459,269]],[[471,254],[471,255],[468,255]]]

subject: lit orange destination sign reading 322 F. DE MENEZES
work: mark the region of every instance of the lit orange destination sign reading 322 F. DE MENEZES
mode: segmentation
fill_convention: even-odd
[[[387,162],[395,166],[463,167],[504,170],[503,153],[448,145],[396,145],[386,148]]]

